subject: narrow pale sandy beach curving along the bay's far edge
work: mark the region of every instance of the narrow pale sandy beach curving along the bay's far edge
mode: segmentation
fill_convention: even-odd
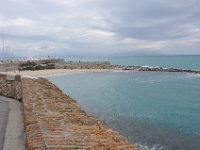
[[[51,70],[35,70],[35,71],[8,71],[1,72],[3,74],[17,75],[20,74],[23,77],[44,77],[60,74],[76,74],[76,73],[92,73],[92,72],[109,72],[112,69],[51,69]]]

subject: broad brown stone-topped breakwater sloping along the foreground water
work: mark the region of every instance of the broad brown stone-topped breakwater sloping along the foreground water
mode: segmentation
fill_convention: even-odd
[[[22,79],[27,150],[136,150],[46,79]]]

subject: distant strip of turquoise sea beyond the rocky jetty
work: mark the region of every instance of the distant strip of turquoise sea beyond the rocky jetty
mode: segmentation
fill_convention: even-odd
[[[107,58],[67,58],[66,61],[109,61],[124,66],[159,66],[165,68],[200,70],[200,56],[136,56]]]

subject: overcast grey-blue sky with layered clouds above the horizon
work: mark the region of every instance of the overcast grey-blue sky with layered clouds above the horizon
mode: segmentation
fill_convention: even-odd
[[[199,0],[0,0],[0,54],[200,55]]]

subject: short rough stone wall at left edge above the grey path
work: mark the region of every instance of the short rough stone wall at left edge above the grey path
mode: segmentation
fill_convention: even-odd
[[[0,95],[21,100],[21,76],[0,74]]]

